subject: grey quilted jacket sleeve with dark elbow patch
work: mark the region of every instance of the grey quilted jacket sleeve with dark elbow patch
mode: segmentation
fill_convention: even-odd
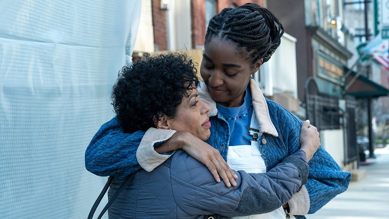
[[[266,173],[235,171],[237,186],[226,187],[184,151],[177,151],[169,165],[174,200],[192,218],[212,214],[236,217],[276,210],[306,182],[309,169],[305,152],[297,151]]]

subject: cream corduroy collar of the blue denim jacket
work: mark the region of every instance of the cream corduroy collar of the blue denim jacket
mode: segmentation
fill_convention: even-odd
[[[258,85],[253,79],[250,79],[249,88],[251,91],[252,106],[254,108],[254,113],[259,124],[260,135],[262,135],[262,133],[268,133],[270,135],[278,137],[278,132],[274,127],[272,119],[270,119],[270,114],[265,96],[263,96],[261,89],[259,89]],[[198,98],[200,98],[200,100],[209,105],[210,110],[207,113],[208,116],[216,116],[216,102],[212,99],[208,91],[207,85],[204,83],[203,80],[200,82],[197,91]]]

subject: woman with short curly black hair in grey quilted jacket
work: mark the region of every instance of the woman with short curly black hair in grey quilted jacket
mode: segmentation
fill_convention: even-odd
[[[192,61],[180,54],[146,55],[144,61],[123,67],[112,105],[124,133],[174,130],[207,140],[210,108],[198,98],[196,72]],[[316,138],[317,144],[302,147],[267,173],[233,172],[235,187],[219,184],[205,165],[176,151],[151,172],[137,172],[109,208],[109,218],[220,218],[275,210],[305,184],[306,154],[312,156],[320,146],[313,128],[302,132]],[[109,199],[123,181],[113,179]]]

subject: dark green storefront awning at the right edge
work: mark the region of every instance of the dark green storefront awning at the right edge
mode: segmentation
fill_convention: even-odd
[[[348,72],[349,68],[344,68],[344,72]],[[348,84],[356,75],[356,72],[352,71],[351,74],[346,78]],[[352,95],[356,97],[378,97],[389,95],[389,90],[382,87],[381,85],[370,81],[368,78],[359,75],[357,80],[345,91],[346,95]]]

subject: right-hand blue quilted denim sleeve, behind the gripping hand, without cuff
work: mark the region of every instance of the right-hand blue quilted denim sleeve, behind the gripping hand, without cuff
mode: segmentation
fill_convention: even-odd
[[[284,126],[282,138],[287,142],[288,154],[293,154],[300,149],[300,129],[302,121],[275,102],[267,100],[269,108],[277,108],[279,125]],[[277,121],[278,122],[278,121]],[[313,124],[315,125],[315,124]],[[308,162],[309,175],[305,184],[310,198],[308,214],[313,214],[336,195],[347,190],[351,173],[343,172],[335,160],[322,146],[319,147],[312,159]]]

